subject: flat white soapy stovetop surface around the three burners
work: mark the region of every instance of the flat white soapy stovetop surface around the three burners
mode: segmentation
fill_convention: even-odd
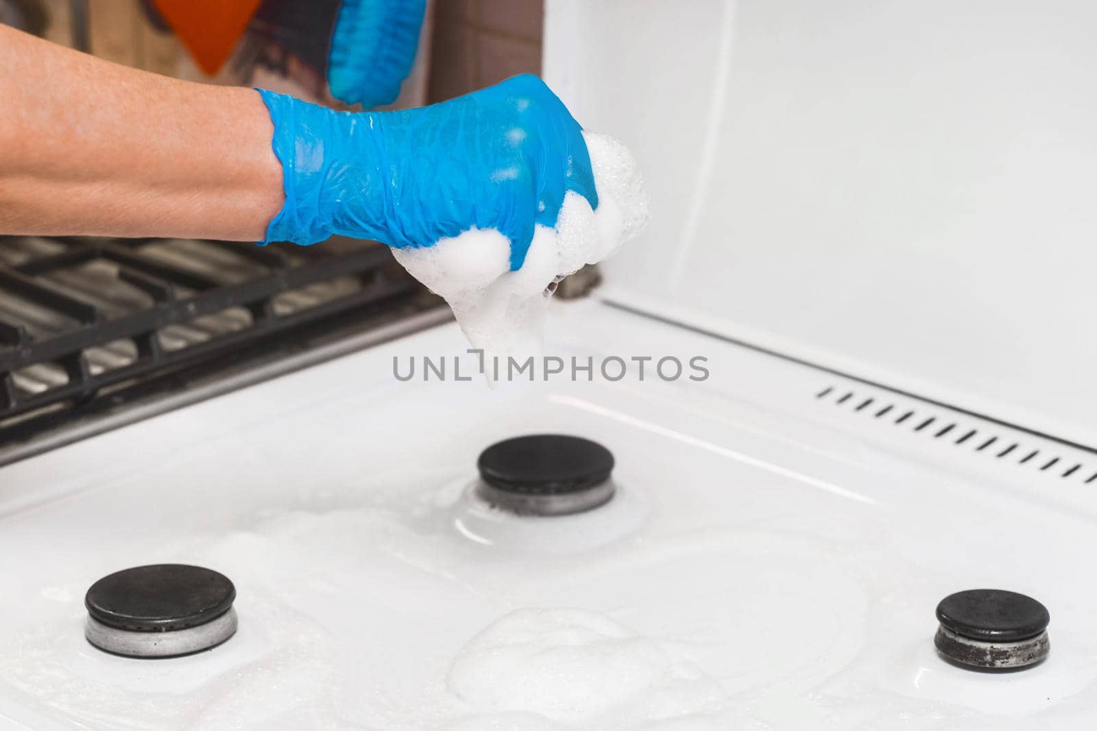
[[[606,305],[552,327],[550,352],[701,354],[712,377],[397,382],[394,355],[462,351],[445,325],[0,470],[0,727],[1090,728],[1093,491],[844,431],[811,398],[833,378]],[[613,452],[609,506],[464,496],[485,446],[553,431]],[[161,661],[88,646],[87,587],[159,561],[230,576],[237,636]],[[1044,664],[936,656],[937,602],[982,586],[1049,607]],[[518,615],[530,631],[610,629],[463,651],[530,608],[581,610]]]

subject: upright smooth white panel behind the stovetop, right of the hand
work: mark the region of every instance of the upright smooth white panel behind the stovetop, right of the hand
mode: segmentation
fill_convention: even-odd
[[[1097,4],[546,7],[652,193],[604,296],[1097,444]]]

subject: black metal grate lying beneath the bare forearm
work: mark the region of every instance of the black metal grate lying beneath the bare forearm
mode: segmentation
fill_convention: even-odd
[[[422,296],[385,248],[0,238],[0,443],[29,414],[303,323]]]

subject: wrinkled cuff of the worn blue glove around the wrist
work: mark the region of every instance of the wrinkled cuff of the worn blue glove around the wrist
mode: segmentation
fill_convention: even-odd
[[[315,104],[287,94],[256,89],[262,96],[274,136],[271,147],[282,163],[285,203],[267,226],[267,237],[259,241],[291,241],[308,245],[331,236],[331,222],[323,215],[319,202],[324,182],[324,139],[332,114]]]

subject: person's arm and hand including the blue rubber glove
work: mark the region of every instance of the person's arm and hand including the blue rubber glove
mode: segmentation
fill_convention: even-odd
[[[598,206],[581,128],[536,77],[335,112],[129,69],[0,26],[0,233],[394,248],[495,229],[524,261],[565,194]]]

